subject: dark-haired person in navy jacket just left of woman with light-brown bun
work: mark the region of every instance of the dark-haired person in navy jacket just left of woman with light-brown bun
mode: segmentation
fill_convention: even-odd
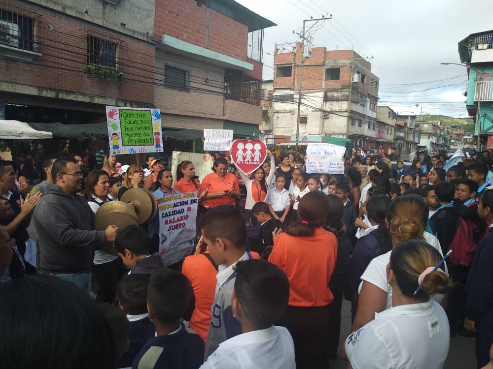
[[[371,227],[365,230],[366,235],[360,237],[354,245],[346,278],[346,298],[351,301],[351,317],[354,320],[358,307],[358,286],[360,277],[373,258],[392,249],[392,239],[385,223],[390,198],[385,195],[374,195],[366,203],[366,212]]]

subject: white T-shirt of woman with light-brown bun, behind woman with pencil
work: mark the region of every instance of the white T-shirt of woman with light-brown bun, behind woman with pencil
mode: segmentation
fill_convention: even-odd
[[[428,232],[424,232],[423,238],[424,241],[426,241],[428,244],[433,246],[440,253],[440,255],[443,256],[442,248],[440,247],[440,243],[438,242],[435,236],[429,234]],[[370,261],[370,264],[368,264],[368,267],[365,269],[365,271],[360,277],[361,283],[359,284],[358,287],[358,293],[359,293],[361,292],[361,286],[363,285],[363,281],[366,281],[368,283],[373,284],[374,286],[377,286],[385,293],[387,293],[387,303],[385,309],[389,309],[390,307],[392,307],[392,287],[387,282],[387,264],[390,261],[391,252],[392,250],[386,252],[385,254],[377,256],[373,258],[372,261]],[[444,271],[448,275],[448,269],[446,265]],[[443,297],[444,295],[442,294],[433,295],[432,299],[438,303],[441,303]]]

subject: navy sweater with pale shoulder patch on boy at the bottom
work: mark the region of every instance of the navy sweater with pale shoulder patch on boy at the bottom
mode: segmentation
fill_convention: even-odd
[[[183,323],[168,334],[153,337],[134,359],[132,369],[198,369],[204,362],[204,341]]]

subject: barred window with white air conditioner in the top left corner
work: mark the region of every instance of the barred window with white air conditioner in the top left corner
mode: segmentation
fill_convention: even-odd
[[[33,18],[0,9],[0,44],[24,50],[33,50]]]

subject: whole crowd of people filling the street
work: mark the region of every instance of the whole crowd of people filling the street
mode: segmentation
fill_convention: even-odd
[[[45,154],[37,184],[0,161],[0,367],[432,369],[456,335],[492,366],[493,150],[469,156],[355,149],[310,174],[268,151],[246,175],[212,153],[200,181],[187,160]],[[131,188],[196,193],[191,255],[166,265],[157,217],[95,230]]]

